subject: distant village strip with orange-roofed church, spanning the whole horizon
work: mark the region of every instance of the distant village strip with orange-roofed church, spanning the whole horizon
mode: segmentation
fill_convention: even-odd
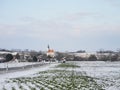
[[[48,45],[47,51],[45,52],[35,52],[29,50],[1,50],[0,49],[0,62],[5,60],[7,54],[11,54],[13,56],[12,61],[34,61],[33,57],[37,59],[37,61],[42,60],[51,60],[51,59],[67,59],[67,60],[88,60],[89,57],[94,56],[96,60],[103,60],[103,59],[113,59],[113,60],[120,60],[120,52],[113,52],[113,51],[99,51],[99,52],[64,52],[64,53],[57,53],[53,49],[51,49]],[[16,58],[19,56],[19,59]],[[117,58],[117,59],[116,59]],[[18,59],[18,60],[17,60]]]

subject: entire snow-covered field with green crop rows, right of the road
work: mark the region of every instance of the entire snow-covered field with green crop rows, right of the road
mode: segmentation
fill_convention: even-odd
[[[0,74],[0,85],[0,90],[120,90],[120,62],[51,63]]]

